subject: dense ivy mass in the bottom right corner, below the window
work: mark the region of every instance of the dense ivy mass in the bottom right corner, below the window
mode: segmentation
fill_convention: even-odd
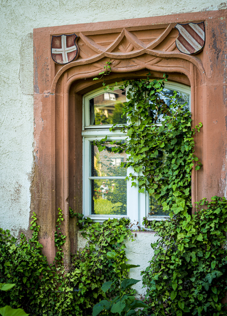
[[[143,274],[146,299],[159,315],[226,315],[227,200],[198,202],[195,215],[180,210],[166,221],[149,223],[159,236]],[[187,313],[191,314],[187,314]]]

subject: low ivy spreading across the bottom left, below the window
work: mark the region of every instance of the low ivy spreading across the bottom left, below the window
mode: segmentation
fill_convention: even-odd
[[[58,210],[54,234],[57,252],[53,264],[48,264],[41,252],[42,245],[38,241],[40,227],[35,213],[31,222],[33,235],[29,241],[24,234],[17,241],[9,230],[0,229],[0,287],[9,289],[12,287],[9,283],[16,284],[0,295],[0,306],[10,305],[7,310],[1,310],[4,315],[15,312],[11,310],[15,307],[23,308],[31,316],[91,315],[93,306],[103,298],[101,283],[119,277],[118,266],[106,254],[114,250],[121,264],[127,261],[123,241],[131,238],[129,220],[122,218],[103,224],[92,223],[71,208],[69,211],[71,216],[77,216],[82,235],[88,239],[85,248],[72,256],[69,271],[63,268],[65,236],[61,232],[62,210]],[[125,271],[122,278],[126,275]],[[116,285],[118,283],[116,281]],[[115,295],[114,289],[111,295]]]

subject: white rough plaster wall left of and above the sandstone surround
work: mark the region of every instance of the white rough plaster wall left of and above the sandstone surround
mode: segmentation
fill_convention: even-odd
[[[29,225],[33,28],[226,9],[223,0],[0,0],[0,227]]]

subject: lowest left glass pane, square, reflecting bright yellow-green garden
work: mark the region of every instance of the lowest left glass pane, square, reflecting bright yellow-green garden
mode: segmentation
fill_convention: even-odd
[[[127,215],[127,183],[123,179],[90,180],[92,214]]]

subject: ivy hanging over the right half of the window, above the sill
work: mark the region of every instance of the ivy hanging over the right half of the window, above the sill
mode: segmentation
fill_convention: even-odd
[[[149,74],[148,74],[149,75]],[[177,92],[166,94],[164,79],[130,80],[120,87],[128,87],[128,102],[124,103],[123,115],[128,125],[122,125],[126,141],[113,141],[113,152],[125,150],[127,162],[122,167],[133,167],[129,174],[132,185],[138,183],[139,192],[152,195],[163,211],[170,216],[191,209],[191,169],[201,167],[194,155],[193,136],[202,124],[191,129],[191,113],[187,104],[177,98]],[[117,82],[115,83],[115,85]],[[110,88],[106,86],[106,88]],[[110,130],[116,129],[115,125]],[[96,141],[99,151],[106,147],[106,138]],[[127,179],[127,178],[126,178]]]

